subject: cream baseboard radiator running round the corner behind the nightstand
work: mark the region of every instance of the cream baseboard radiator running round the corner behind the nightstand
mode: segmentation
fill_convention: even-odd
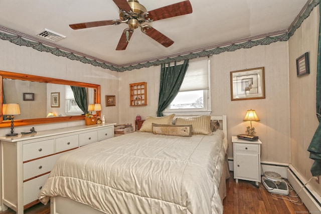
[[[277,172],[283,178],[288,179],[295,192],[299,192],[307,182],[291,164],[261,162],[261,166],[261,175],[263,171]],[[229,159],[229,167],[233,171],[233,159]],[[299,197],[310,213],[321,213],[321,196],[313,190],[309,183],[300,191]]]

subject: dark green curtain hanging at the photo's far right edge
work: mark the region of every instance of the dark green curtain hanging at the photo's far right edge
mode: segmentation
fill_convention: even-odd
[[[321,12],[321,0],[319,4]],[[317,48],[317,66],[316,66],[316,117],[319,121],[319,125],[312,137],[308,151],[310,152],[310,158],[314,160],[311,166],[311,173],[313,176],[321,175],[321,16],[319,17],[319,38]]]

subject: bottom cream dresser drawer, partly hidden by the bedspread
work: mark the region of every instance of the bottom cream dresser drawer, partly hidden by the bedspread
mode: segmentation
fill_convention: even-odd
[[[37,200],[42,186],[45,184],[49,174],[24,182],[24,205]]]

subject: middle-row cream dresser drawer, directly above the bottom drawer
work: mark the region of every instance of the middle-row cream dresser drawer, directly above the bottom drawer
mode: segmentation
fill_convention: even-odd
[[[51,171],[62,154],[59,153],[24,163],[24,180]]]

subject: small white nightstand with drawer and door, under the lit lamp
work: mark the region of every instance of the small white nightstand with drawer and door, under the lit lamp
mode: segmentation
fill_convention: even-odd
[[[234,179],[255,181],[258,185],[261,181],[261,144],[260,140],[250,141],[238,139],[232,136]]]

